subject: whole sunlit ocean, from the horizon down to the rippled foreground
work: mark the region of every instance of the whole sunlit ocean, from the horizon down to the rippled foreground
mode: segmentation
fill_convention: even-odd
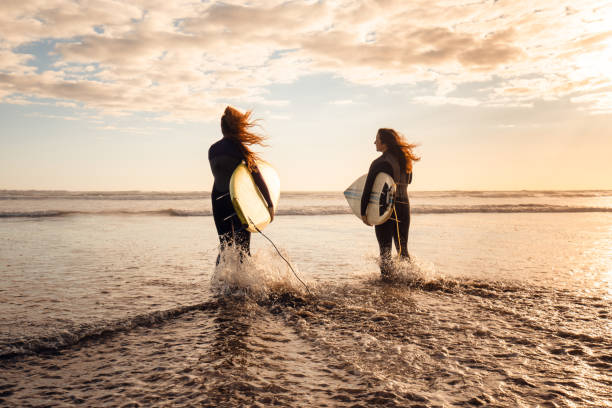
[[[612,407],[612,191],[409,195],[383,282],[340,192],[0,191],[0,406]]]

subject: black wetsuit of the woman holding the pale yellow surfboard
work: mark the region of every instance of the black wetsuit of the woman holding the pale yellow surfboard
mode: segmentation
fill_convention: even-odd
[[[221,250],[236,243],[242,254],[250,255],[251,233],[245,225],[242,225],[238,215],[236,215],[229,194],[229,182],[232,173],[243,160],[244,155],[238,148],[237,142],[228,138],[219,140],[208,149],[208,161],[215,178],[211,194],[213,217]],[[259,171],[252,171],[251,175],[268,207],[271,207],[270,193],[261,174]],[[217,257],[217,263],[219,263],[219,257]]]

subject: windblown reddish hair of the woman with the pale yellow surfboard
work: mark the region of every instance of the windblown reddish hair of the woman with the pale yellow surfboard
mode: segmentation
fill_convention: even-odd
[[[244,155],[249,170],[254,170],[259,155],[253,152],[249,146],[258,144],[265,146],[264,136],[253,133],[251,129],[257,126],[256,120],[251,120],[251,111],[240,113],[237,109],[228,106],[221,116],[221,132],[223,136],[233,140]]]

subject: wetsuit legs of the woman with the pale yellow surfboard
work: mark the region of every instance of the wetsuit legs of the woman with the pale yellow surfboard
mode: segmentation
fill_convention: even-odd
[[[221,198],[219,198],[221,197]],[[244,255],[251,255],[251,233],[243,228],[240,219],[235,214],[232,199],[229,194],[223,194],[213,191],[211,194],[213,218],[215,219],[215,227],[217,235],[219,235],[219,243],[221,251],[234,243],[240,249],[241,259]],[[217,256],[217,265],[219,264],[220,254]]]

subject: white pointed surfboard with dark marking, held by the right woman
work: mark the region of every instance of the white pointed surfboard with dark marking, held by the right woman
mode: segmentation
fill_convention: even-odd
[[[345,191],[344,197],[348,201],[353,214],[361,219],[361,196],[365,187],[367,174],[359,177]],[[374,179],[372,192],[366,208],[366,219],[372,225],[380,225],[391,217],[395,201],[395,182],[387,173],[378,173]]]

